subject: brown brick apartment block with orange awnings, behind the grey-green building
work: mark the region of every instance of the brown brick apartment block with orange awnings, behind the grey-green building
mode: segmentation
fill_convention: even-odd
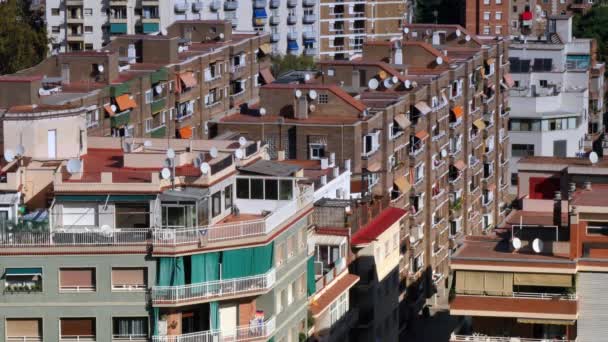
[[[166,36],[122,35],[103,51],[60,53],[0,77],[0,108],[78,105],[92,136],[207,137],[272,82],[267,34],[223,21],[180,21]]]

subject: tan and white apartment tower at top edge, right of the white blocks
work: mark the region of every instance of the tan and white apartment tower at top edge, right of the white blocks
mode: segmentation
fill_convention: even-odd
[[[400,38],[403,25],[412,22],[413,5],[404,0],[322,0],[319,57],[352,59],[360,56],[366,39]]]

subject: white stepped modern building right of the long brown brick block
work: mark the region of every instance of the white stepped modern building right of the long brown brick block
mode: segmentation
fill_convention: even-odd
[[[603,153],[605,66],[591,39],[572,36],[570,16],[550,16],[541,39],[515,39],[509,46],[512,163],[525,156],[574,157]]]

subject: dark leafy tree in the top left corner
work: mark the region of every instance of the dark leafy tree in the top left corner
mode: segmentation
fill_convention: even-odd
[[[44,18],[29,0],[0,3],[0,75],[39,63],[47,54]]]

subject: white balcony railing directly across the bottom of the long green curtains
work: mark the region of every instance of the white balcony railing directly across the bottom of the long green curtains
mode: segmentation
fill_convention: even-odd
[[[250,295],[265,292],[274,286],[276,272],[272,268],[265,274],[250,277],[222,279],[181,286],[152,287],[152,302],[158,304],[191,303],[222,296]]]

